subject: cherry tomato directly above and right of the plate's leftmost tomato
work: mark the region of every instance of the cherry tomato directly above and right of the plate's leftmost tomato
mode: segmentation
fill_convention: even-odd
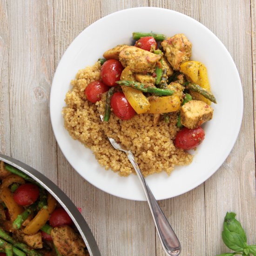
[[[111,59],[105,61],[101,66],[101,79],[108,86],[117,85],[115,82],[120,80],[123,66],[120,61]]]

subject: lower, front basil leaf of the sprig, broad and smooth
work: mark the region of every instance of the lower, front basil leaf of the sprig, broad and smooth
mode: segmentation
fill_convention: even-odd
[[[229,249],[243,252],[243,238],[239,234],[230,231],[222,231],[222,240]]]

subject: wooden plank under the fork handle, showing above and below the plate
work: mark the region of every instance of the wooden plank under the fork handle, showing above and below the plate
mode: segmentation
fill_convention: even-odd
[[[149,1],[150,6],[163,7],[200,19],[199,1]],[[160,201],[182,246],[182,256],[205,255],[204,185],[168,200]],[[161,243],[156,238],[156,255],[164,256]]]

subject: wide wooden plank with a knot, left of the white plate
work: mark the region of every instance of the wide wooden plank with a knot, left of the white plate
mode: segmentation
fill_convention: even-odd
[[[8,1],[11,152],[57,183],[49,116],[54,74],[52,1]]]

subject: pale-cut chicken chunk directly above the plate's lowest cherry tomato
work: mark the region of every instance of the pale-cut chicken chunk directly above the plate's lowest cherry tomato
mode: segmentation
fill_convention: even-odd
[[[182,125],[189,129],[195,129],[202,123],[209,121],[213,116],[213,108],[203,101],[189,101],[181,108]]]

